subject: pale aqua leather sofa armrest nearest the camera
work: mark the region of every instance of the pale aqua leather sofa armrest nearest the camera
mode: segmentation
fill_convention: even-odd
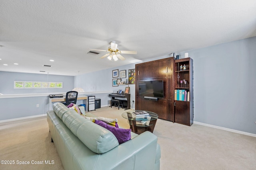
[[[134,139],[101,154],[95,169],[154,169],[157,137],[146,131]]]

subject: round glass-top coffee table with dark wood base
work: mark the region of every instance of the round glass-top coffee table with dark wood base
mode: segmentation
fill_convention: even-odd
[[[132,110],[122,113],[122,117],[128,119],[132,132],[140,134],[150,131],[153,133],[158,114],[146,110]]]

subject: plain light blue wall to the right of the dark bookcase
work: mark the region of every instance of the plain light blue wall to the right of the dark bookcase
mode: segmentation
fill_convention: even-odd
[[[194,60],[194,121],[256,134],[256,37],[186,52]]]

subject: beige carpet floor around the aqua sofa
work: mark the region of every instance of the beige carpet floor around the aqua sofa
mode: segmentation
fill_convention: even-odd
[[[124,109],[102,107],[91,113],[117,118],[118,125],[129,128],[122,118]],[[161,147],[161,170],[255,170],[256,138],[202,125],[191,127],[158,119],[153,132]],[[1,170],[63,170],[58,152],[51,143],[46,117],[0,123]],[[46,164],[48,161],[54,164]],[[29,161],[30,164],[17,164]],[[43,164],[32,164],[33,161]],[[2,163],[2,162],[1,162]],[[25,162],[22,162],[25,163]]]

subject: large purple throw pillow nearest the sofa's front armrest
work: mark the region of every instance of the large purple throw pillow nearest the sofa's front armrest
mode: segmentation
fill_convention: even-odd
[[[116,136],[116,139],[118,140],[119,145],[131,139],[131,129],[121,129],[114,126],[110,126],[100,120],[95,120],[94,123],[112,132]]]

